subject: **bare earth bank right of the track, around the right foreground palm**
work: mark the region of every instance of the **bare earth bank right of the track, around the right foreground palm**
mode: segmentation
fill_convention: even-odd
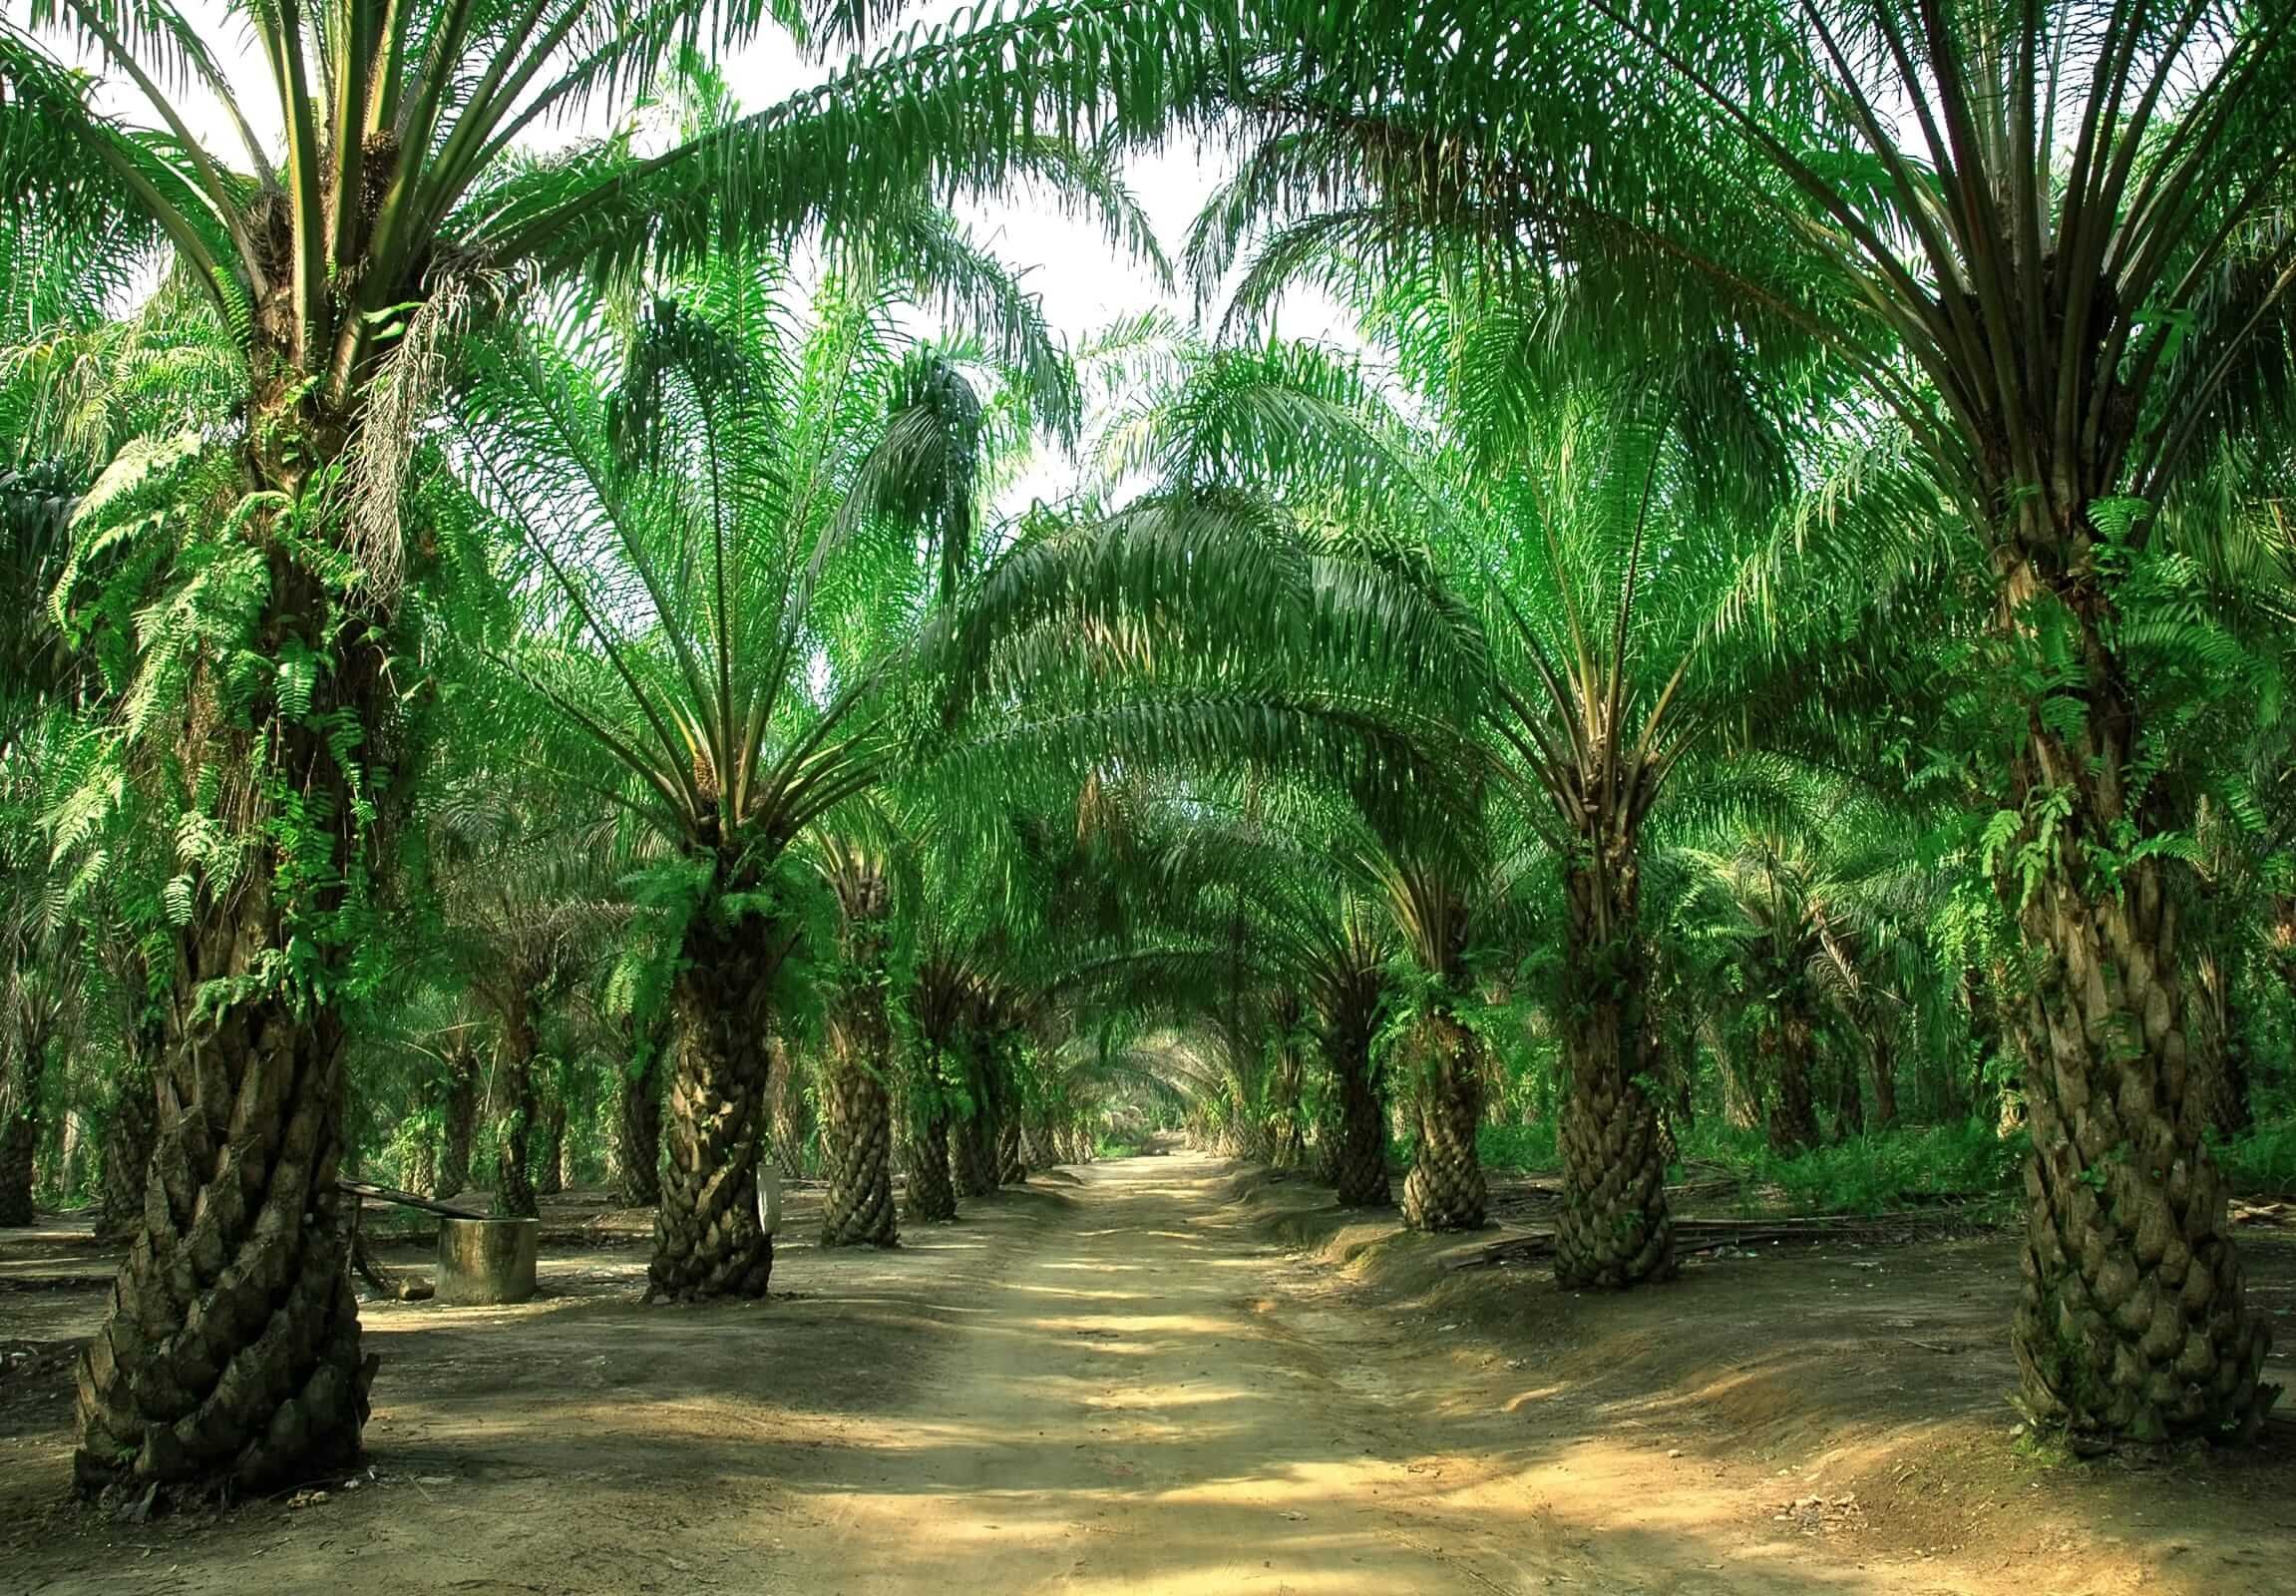
[[[1639,1525],[1697,1559],[1665,1589],[2296,1589],[2296,1428],[2101,1463],[2020,1442],[2014,1238],[1729,1247],[1603,1295],[1559,1291],[1548,1263],[1481,1265],[1543,1222],[1536,1196],[1506,1229],[1424,1238],[1297,1180],[1231,1192],[1329,1272],[1320,1311],[1421,1350],[1414,1389],[1474,1481],[1456,1504],[1541,1502],[1580,1555],[1559,1578],[1637,1589],[1609,1552]],[[2241,1247],[2278,1325],[2268,1378],[2296,1387],[2296,1231]]]

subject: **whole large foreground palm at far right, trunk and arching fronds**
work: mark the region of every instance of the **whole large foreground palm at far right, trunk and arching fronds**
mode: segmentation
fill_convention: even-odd
[[[1566,262],[1632,347],[1717,326],[1793,347],[1855,395],[1869,443],[1800,547],[1844,583],[1885,586],[1908,553],[1979,574],[2004,691],[1961,730],[1993,769],[1986,861],[2041,962],[2014,1008],[2034,1130],[2020,1403],[2085,1440],[2250,1428],[2268,1330],[2181,1109],[2211,1077],[2188,1063],[2206,1038],[2179,948],[2190,813],[2147,774],[2151,728],[2209,684],[2174,668],[2190,629],[2124,576],[2227,448],[2278,425],[2287,7],[1297,21],[1247,94],[1261,142],[1208,257],[1267,227],[1247,273],[1265,296],[1300,262],[1334,271],[1334,241],[1394,257],[1442,237],[1520,280]]]

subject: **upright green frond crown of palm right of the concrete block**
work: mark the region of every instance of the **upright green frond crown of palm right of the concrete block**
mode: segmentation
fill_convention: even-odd
[[[567,735],[604,756],[590,781],[682,850],[771,857],[884,776],[985,450],[962,349],[907,338],[898,303],[866,259],[808,305],[728,257],[471,356],[452,452],[530,611],[496,652],[512,712],[572,769]],[[1045,386],[1022,413],[1058,413]]]

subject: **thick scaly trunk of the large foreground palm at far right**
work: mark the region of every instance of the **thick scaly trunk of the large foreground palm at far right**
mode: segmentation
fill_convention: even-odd
[[[2181,818],[2147,813],[2161,790],[2131,769],[2142,728],[2085,521],[2112,482],[2085,487],[2020,503],[2000,549],[2014,581],[2062,602],[2082,682],[2078,714],[2032,714],[2011,758],[2011,804],[2057,813],[2043,859],[2002,850],[1995,882],[2046,955],[2009,1015],[2032,1125],[2018,1401],[2076,1444],[2252,1435],[2278,1396],[2259,1385],[2271,1323],[2245,1307],[2204,1139],[2220,1066],[2183,985],[2181,866],[2126,857],[2126,836]],[[2099,854],[2122,857],[2103,873]]]

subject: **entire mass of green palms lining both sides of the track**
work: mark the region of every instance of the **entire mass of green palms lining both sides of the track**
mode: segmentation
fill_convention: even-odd
[[[507,1210],[613,1100],[670,1300],[767,1291],[799,1114],[886,1242],[895,1164],[946,1217],[1118,1084],[1350,1203],[1401,1137],[1419,1229],[1550,1123],[1559,1279],[1637,1286],[1701,1114],[1791,1153],[1910,1068],[2030,1137],[2027,1415],[2252,1431],[2285,9],[1093,0],[742,115],[714,51],[889,18],[232,5],[239,99],[39,0],[0,1180],[119,1105],[83,1486],[356,1454],[338,1173],[457,1185],[480,1059]],[[1176,138],[1217,331],[1065,349],[951,207],[1162,264]],[[1362,351],[1267,335],[1309,285]]]

